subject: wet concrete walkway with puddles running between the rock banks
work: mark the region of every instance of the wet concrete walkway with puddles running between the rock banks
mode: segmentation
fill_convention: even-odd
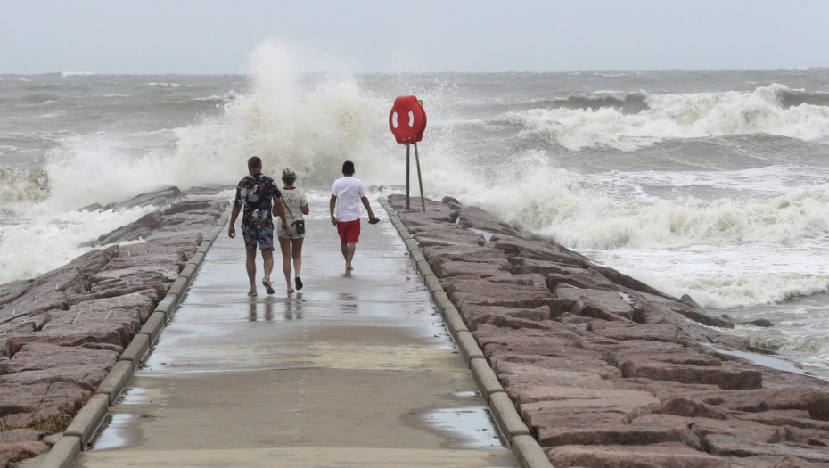
[[[338,243],[308,220],[305,288],[276,252],[276,294],[248,298],[220,235],[75,466],[519,466],[393,226],[364,223],[350,275]]]

